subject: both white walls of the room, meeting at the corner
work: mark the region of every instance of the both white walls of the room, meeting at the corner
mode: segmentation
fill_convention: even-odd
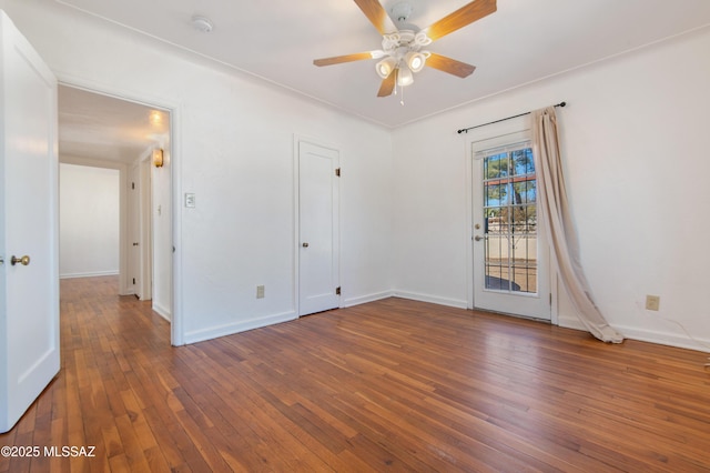
[[[710,343],[710,254],[696,244],[710,230],[707,30],[390,132],[55,2],[0,7],[60,79],[174,110],[184,341],[295,316],[294,135],[341,151],[344,304],[394,289],[466,305],[468,153],[456,130],[566,100],[562,152],[599,306],[628,336],[701,348],[680,323]],[[195,209],[182,207],[184,192]],[[659,312],[642,308],[647,293],[661,296]]]

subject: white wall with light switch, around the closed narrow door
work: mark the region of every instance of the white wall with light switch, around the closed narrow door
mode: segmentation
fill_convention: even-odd
[[[182,341],[295,316],[294,135],[341,151],[343,303],[388,294],[389,131],[57,2],[0,7],[60,80],[174,109]]]

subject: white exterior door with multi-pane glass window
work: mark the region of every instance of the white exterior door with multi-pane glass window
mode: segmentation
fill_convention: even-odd
[[[549,251],[526,132],[474,143],[474,306],[550,320]]]

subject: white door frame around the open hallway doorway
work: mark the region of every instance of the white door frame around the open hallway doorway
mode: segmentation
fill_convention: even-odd
[[[99,93],[103,95],[114,97],[120,100],[140,103],[146,107],[153,107],[170,113],[170,171],[171,171],[171,211],[172,211],[172,240],[173,240],[173,258],[172,258],[172,319],[170,324],[171,345],[180,346],[185,344],[184,321],[183,321],[183,301],[182,301],[182,147],[181,147],[181,117],[182,105],[171,99],[164,97],[155,97],[144,92],[135,92],[98,83],[83,78],[72,76],[70,73],[54,72],[60,85],[82,89],[88,92]],[[126,167],[128,173],[128,167]],[[126,178],[128,180],[128,178]],[[122,201],[124,202],[124,201]],[[122,231],[123,238],[124,235]],[[124,240],[121,248],[128,244]],[[123,259],[122,259],[123,260]]]

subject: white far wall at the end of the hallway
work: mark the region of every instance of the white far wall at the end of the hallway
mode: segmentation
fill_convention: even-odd
[[[59,274],[119,273],[119,171],[60,163]]]

